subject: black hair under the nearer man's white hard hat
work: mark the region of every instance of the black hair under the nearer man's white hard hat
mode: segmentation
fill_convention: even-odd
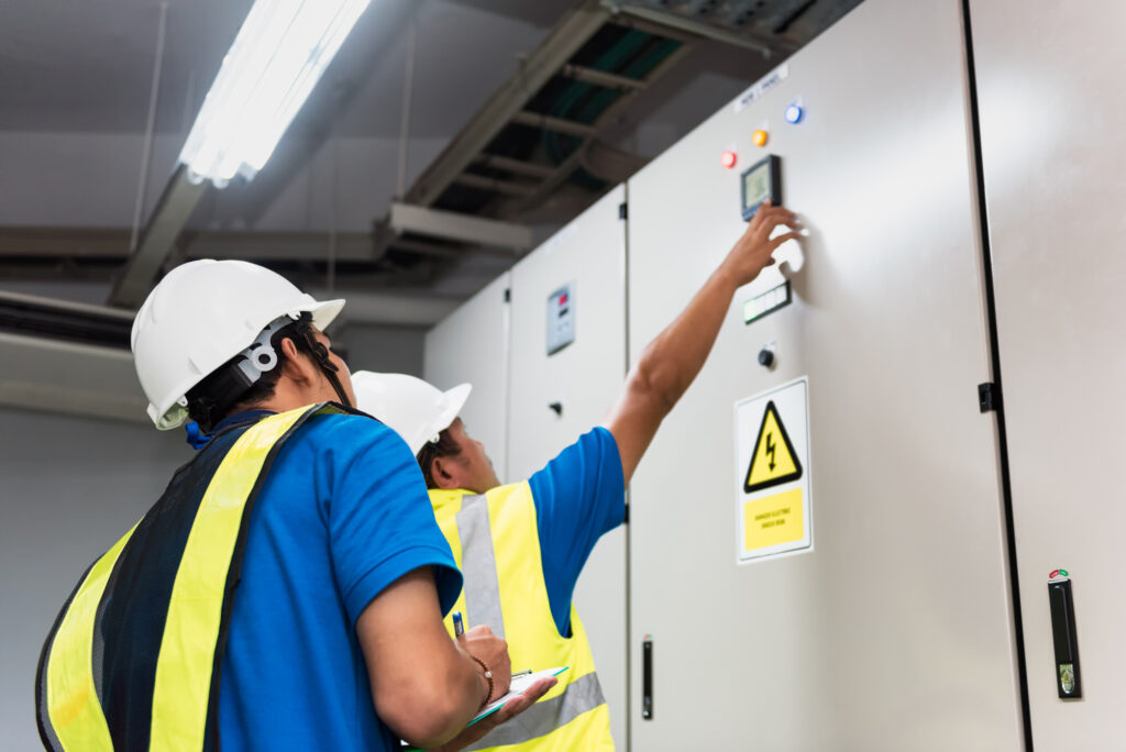
[[[292,340],[297,352],[318,361],[320,353],[313,346],[320,343],[313,338],[312,326],[312,314],[303,312],[300,319],[274,332],[270,335],[270,347],[277,353],[277,364],[262,371],[256,382],[250,382],[239,368],[239,364],[247,359],[241,352],[209,373],[186,395],[188,417],[199,423],[204,431],[211,431],[215,423],[235,412],[236,408],[250,406],[272,397],[278,379],[282,378],[282,362],[285,358],[282,340]],[[322,349],[323,347],[321,346]]]

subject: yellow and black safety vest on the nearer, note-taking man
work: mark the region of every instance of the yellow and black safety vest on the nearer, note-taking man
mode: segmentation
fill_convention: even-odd
[[[36,678],[51,750],[218,749],[220,668],[247,521],[282,445],[332,404],[218,435],[96,561]]]

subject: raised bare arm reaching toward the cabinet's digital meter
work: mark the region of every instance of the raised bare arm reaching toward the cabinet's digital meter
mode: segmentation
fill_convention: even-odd
[[[788,232],[771,240],[770,233],[778,225],[796,224],[793,212],[765,203],[688,307],[649,343],[631,369],[605,422],[617,441],[627,484],[661,421],[707,360],[735,290],[771,263],[776,248],[798,236]]]

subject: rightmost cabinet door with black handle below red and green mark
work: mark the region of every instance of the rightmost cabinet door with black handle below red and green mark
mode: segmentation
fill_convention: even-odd
[[[1121,750],[1126,707],[1126,5],[971,3],[1037,750]],[[1082,699],[1046,582],[1070,572]]]

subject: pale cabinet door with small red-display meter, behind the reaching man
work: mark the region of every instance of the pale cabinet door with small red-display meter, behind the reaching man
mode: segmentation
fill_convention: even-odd
[[[626,371],[625,222],[618,187],[512,269],[509,455],[530,476],[606,415]],[[573,334],[561,349],[548,334]],[[555,405],[552,408],[551,405]],[[626,740],[626,532],[598,543],[575,588],[619,749]]]

